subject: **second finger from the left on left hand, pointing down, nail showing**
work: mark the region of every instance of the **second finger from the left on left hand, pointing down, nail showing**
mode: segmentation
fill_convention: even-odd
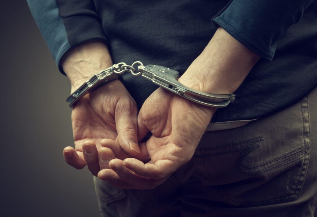
[[[86,141],[82,149],[88,169],[94,176],[97,176],[100,168],[96,145],[92,141]]]

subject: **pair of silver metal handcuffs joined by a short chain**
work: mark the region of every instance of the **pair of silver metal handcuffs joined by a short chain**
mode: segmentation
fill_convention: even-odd
[[[135,69],[135,66],[138,69]],[[169,90],[179,96],[182,96],[193,102],[197,102],[202,105],[222,108],[229,105],[230,102],[235,100],[235,94],[210,94],[204,93],[192,88],[186,87],[177,81],[178,71],[166,68],[159,65],[146,65],[144,66],[142,62],[136,61],[132,65],[127,65],[125,63],[114,64],[113,66],[100,71],[95,74],[84,84],[82,84],[77,90],[75,90],[66,100],[69,102],[69,107],[73,108],[75,103],[87,93],[93,91],[97,87],[111,82],[119,78],[126,71],[131,72],[134,76],[142,75],[166,90]]]

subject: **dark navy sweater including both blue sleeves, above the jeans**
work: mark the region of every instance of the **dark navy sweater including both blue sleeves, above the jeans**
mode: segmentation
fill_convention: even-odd
[[[102,40],[113,63],[184,73],[218,26],[262,58],[213,122],[250,120],[286,108],[317,84],[317,2],[312,0],[28,0],[59,64],[85,41]],[[210,22],[211,21],[211,22]],[[208,70],[208,69],[207,69]],[[139,107],[157,85],[125,74]],[[66,97],[65,97],[66,98]]]

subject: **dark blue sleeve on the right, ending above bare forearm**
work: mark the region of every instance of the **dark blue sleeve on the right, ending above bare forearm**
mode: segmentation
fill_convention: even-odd
[[[261,57],[272,60],[276,42],[313,0],[231,0],[211,21]]]

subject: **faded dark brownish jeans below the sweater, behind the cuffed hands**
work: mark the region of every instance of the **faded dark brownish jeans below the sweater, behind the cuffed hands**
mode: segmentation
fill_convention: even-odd
[[[317,89],[245,126],[206,132],[190,162],[151,190],[94,177],[101,216],[314,216]]]

